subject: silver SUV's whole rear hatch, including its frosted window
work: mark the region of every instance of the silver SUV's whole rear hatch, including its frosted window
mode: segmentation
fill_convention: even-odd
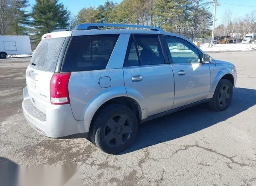
[[[69,37],[51,38],[48,35],[45,38],[43,36],[36,47],[26,69],[26,83],[31,102],[46,114],[46,107],[51,103],[50,80],[56,71],[65,40],[69,40]]]

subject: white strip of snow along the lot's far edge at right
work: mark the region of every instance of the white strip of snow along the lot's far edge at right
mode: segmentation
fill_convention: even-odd
[[[254,44],[215,44],[213,47],[203,47],[202,51],[250,51],[254,50],[256,45]]]

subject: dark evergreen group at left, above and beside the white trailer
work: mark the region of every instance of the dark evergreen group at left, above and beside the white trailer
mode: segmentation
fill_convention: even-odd
[[[28,0],[0,0],[0,35],[30,35],[38,44],[43,34],[67,28],[70,12],[59,0],[36,0],[31,12]]]

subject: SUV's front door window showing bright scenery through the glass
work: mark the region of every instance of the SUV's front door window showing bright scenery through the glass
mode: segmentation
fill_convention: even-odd
[[[198,50],[192,44],[185,40],[164,36],[173,63],[198,63],[200,62],[200,55]]]

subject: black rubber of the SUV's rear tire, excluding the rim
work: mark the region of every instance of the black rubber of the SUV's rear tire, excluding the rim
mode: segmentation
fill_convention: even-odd
[[[96,122],[94,123],[95,127],[93,127],[93,131],[95,132],[95,139],[94,142],[96,146],[100,149],[102,149],[104,152],[110,153],[110,154],[118,154],[119,152],[122,152],[126,148],[132,144],[136,137],[137,133],[137,118],[136,115],[130,110],[128,107],[124,105],[111,105],[112,107],[106,108],[106,112],[103,111],[99,117],[96,119]],[[104,110],[104,109],[103,109]],[[132,133],[130,135],[130,138],[121,146],[110,146],[106,143],[104,139],[104,130],[106,127],[107,121],[113,117],[114,115],[118,114],[125,114],[127,115],[130,120],[132,121]],[[93,134],[94,134],[93,132]],[[93,138],[93,136],[92,136]]]

